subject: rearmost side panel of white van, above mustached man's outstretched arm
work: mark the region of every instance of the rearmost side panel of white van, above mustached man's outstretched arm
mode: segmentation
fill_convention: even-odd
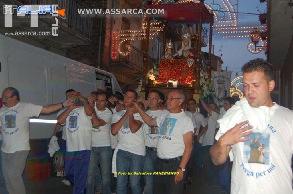
[[[8,85],[18,89],[22,102],[48,104],[44,56],[20,45],[8,44]]]

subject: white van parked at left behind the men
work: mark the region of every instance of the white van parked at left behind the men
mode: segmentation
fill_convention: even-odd
[[[65,101],[67,89],[84,96],[97,89],[122,94],[116,78],[109,72],[0,34],[0,93],[8,86],[18,89],[22,102],[38,105]],[[56,115],[57,112],[30,120],[31,157],[46,154]]]

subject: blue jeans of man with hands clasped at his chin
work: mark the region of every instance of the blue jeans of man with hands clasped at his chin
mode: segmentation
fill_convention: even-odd
[[[142,172],[144,164],[144,156],[133,154],[124,150],[118,150],[116,156],[117,165],[117,194],[127,194],[126,185],[128,172]],[[121,175],[119,173],[127,173]],[[129,184],[133,194],[141,194],[142,188],[140,186],[141,175],[129,176]]]

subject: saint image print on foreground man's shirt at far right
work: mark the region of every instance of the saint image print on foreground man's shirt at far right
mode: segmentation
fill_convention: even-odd
[[[250,140],[244,142],[244,163],[268,165],[270,162],[270,133],[252,133],[246,137],[250,137]]]

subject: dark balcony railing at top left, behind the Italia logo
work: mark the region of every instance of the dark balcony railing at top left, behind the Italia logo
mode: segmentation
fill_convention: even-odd
[[[59,8],[66,9],[66,18],[61,19],[67,27],[84,37],[91,38],[93,34],[93,17],[89,14],[78,14],[78,9],[86,9],[75,0],[18,0],[22,4],[52,5],[57,4]],[[64,26],[64,25],[62,25]]]

